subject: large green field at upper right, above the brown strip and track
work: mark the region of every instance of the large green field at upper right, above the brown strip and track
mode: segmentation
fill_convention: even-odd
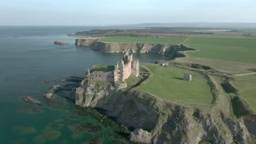
[[[256,64],[256,38],[193,35],[185,45],[199,49],[191,57],[221,59]]]

